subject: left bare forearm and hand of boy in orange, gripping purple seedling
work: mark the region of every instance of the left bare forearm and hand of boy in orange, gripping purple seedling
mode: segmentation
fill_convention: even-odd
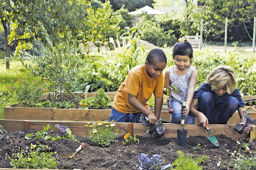
[[[149,124],[153,124],[155,125],[157,122],[157,118],[154,115],[153,112],[151,112],[148,108],[146,108],[145,106],[143,106],[143,104],[141,104],[139,102],[138,99],[135,98],[135,95],[129,94],[128,93],[128,102],[131,104],[131,106],[133,106],[135,109],[137,109],[138,111],[144,113],[145,115],[148,116],[149,119]]]

